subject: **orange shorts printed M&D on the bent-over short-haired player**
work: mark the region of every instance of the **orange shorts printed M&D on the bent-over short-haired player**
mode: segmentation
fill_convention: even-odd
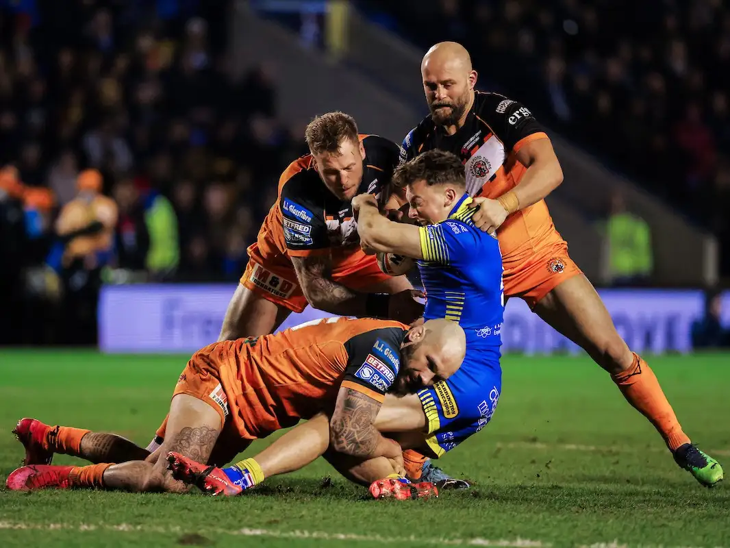
[[[248,265],[241,276],[241,283],[264,299],[300,313],[307,308],[307,298],[301,292],[291,259],[275,254],[264,259],[258,244],[248,248]],[[377,266],[374,255],[366,255],[361,248],[337,252],[333,257],[332,280],[350,289],[366,289],[391,276]]]

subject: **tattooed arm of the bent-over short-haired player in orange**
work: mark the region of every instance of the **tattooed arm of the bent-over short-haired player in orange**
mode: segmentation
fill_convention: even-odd
[[[331,280],[329,255],[293,256],[291,262],[304,297],[314,308],[339,316],[366,316],[366,294]]]

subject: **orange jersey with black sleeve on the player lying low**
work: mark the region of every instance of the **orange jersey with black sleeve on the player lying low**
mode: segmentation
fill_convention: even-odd
[[[399,321],[328,318],[239,339],[223,384],[257,435],[331,409],[341,387],[382,402],[395,386],[407,331]]]

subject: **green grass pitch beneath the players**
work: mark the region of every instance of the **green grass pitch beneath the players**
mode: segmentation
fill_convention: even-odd
[[[491,424],[439,463],[476,485],[437,500],[369,500],[323,460],[239,498],[4,490],[20,417],[145,446],[186,359],[0,352],[1,547],[730,546],[730,483],[707,490],[677,468],[586,357],[505,357]],[[730,472],[730,356],[649,362],[685,431]]]

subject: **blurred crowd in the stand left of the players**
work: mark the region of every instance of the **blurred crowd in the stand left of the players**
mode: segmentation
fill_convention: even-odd
[[[234,74],[228,4],[0,0],[4,295],[93,297],[104,267],[239,278],[304,128],[277,120],[270,69]],[[96,241],[91,259],[64,252],[69,234]]]

